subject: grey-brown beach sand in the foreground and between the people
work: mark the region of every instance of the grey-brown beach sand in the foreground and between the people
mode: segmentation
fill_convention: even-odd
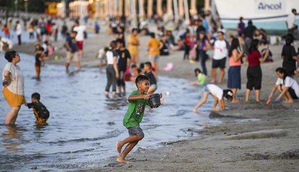
[[[83,67],[96,67],[95,55],[100,45],[108,45],[113,37],[100,34],[95,38],[89,38],[84,44],[84,58],[81,60]],[[141,62],[147,61],[148,37],[141,37],[140,58]],[[62,47],[63,42],[57,42],[57,47]],[[296,46],[297,49],[298,45]],[[266,101],[277,77],[275,69],[282,64],[280,58],[282,45],[271,46],[274,54],[274,63],[262,64],[263,83],[261,89],[261,102],[255,103],[254,92],[251,94],[251,102],[245,103],[246,69],[247,64],[242,65],[242,89],[238,90],[239,104],[227,103],[226,110],[218,116],[223,123],[217,126],[206,126],[205,129],[195,131],[192,128],[186,132],[199,133],[200,136],[193,140],[182,140],[176,143],[161,143],[159,149],[146,150],[142,147],[142,141],[134,149],[134,153],[128,155],[132,164],[119,164],[116,157],[104,160],[107,165],[100,169],[87,169],[86,171],[298,171],[299,169],[299,101],[293,104],[271,103]],[[15,46],[17,51],[33,54],[33,45],[24,44]],[[64,64],[65,49],[62,48],[54,55],[59,60],[51,60],[48,63]],[[169,56],[160,57],[161,69],[168,63],[174,64],[171,72],[160,72],[160,75],[168,77],[195,80],[193,70],[200,67],[199,63],[190,64],[182,60],[183,52],[171,52]],[[53,59],[53,56],[51,57]],[[208,76],[211,74],[211,59],[207,61]],[[225,73],[226,88],[228,62]],[[219,72],[218,72],[219,75]],[[299,81],[299,77],[295,77]],[[208,79],[210,81],[210,78]],[[199,88],[201,89],[201,88]],[[183,90],[182,90],[183,91]],[[201,91],[194,92],[200,95]],[[275,94],[276,97],[278,93]],[[195,106],[195,104],[194,104]],[[212,108],[212,107],[211,107]],[[190,109],[191,111],[192,109]],[[200,115],[200,108],[199,115]],[[259,120],[246,120],[259,119]],[[188,128],[188,126],[186,126]],[[255,132],[257,131],[257,132]],[[254,133],[249,133],[254,132]],[[247,134],[245,134],[247,133]],[[145,136],[144,139],[147,139]],[[113,143],[114,144],[114,143]],[[136,151],[137,150],[137,151]],[[117,154],[116,154],[117,155]]]

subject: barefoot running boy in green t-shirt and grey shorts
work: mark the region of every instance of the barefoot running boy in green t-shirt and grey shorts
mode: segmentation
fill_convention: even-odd
[[[123,120],[123,124],[128,129],[130,136],[123,141],[116,142],[116,149],[120,154],[116,161],[125,164],[130,163],[125,160],[125,157],[132,151],[137,143],[144,138],[144,132],[139,124],[142,121],[146,105],[149,105],[149,94],[147,94],[149,90],[149,78],[140,75],[136,78],[135,84],[138,89],[132,91],[129,95],[129,107]],[[160,98],[161,97],[162,94],[160,93]],[[122,147],[127,143],[128,145],[122,152]]]

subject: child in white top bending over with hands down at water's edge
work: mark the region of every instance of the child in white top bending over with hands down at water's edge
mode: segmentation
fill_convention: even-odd
[[[203,95],[201,101],[193,108],[193,112],[197,112],[197,109],[203,105],[207,99],[208,99],[208,94],[211,94],[214,98],[214,104],[213,104],[213,111],[218,111],[218,110],[224,110],[225,108],[225,102],[224,102],[224,97],[227,99],[232,99],[233,98],[233,91],[230,89],[221,89],[219,86],[216,86],[214,84],[208,84],[203,87]],[[219,104],[219,109],[216,108],[217,104]]]

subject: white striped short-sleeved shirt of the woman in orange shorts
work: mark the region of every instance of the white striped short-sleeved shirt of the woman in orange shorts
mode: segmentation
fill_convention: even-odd
[[[24,95],[24,75],[20,67],[17,65],[14,66],[10,62],[6,63],[2,72],[2,80],[5,80],[4,71],[10,73],[11,83],[7,86],[8,90],[18,95]]]

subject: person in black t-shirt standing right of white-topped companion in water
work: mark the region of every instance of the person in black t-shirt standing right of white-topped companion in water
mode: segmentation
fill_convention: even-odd
[[[131,62],[131,55],[129,51],[124,47],[124,41],[122,39],[117,39],[116,40],[117,44],[117,52],[119,54],[118,57],[118,71],[119,71],[119,78],[117,80],[117,86],[119,89],[119,94],[122,94],[122,87],[124,89],[124,95],[126,95],[126,84],[124,81],[124,73],[128,68],[130,68],[130,62]]]

